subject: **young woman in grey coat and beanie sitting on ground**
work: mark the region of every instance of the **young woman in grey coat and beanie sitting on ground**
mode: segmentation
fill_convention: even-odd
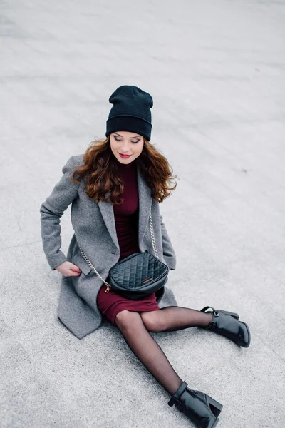
[[[150,144],[152,97],[136,86],[120,86],[111,96],[106,138],[95,141],[84,156],[72,156],[63,177],[41,205],[43,250],[51,269],[63,275],[58,317],[76,337],[93,332],[102,315],[118,327],[125,342],[197,427],[212,428],[222,404],[187,384],[173,370],[150,332],[202,327],[242,347],[249,327],[232,312],[177,307],[163,287],[141,300],[128,300],[95,275],[80,248],[104,280],[115,263],[128,255],[152,253],[148,224],[152,214],[160,260],[175,269],[175,252],[160,216],[161,203],[176,184],[169,163]],[[60,219],[71,206],[74,235],[67,257],[61,252]]]

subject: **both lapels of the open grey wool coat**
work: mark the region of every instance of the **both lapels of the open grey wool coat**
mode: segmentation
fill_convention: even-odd
[[[142,242],[142,238],[145,236],[145,230],[149,221],[150,208],[152,204],[151,190],[148,187],[145,179],[140,173],[140,168],[138,167],[138,199],[139,199],[139,215],[138,215],[138,243]],[[108,197],[108,195],[106,195]],[[115,230],[115,216],[113,204],[99,200],[98,202],[100,212],[102,214],[103,220],[105,221],[106,228],[110,233],[111,238],[113,239],[116,247],[119,248],[117,233]]]

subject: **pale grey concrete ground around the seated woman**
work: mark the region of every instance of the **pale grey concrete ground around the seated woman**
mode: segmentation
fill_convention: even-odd
[[[219,427],[284,427],[285,4],[1,0],[0,426],[192,427],[105,324],[56,317],[60,274],[39,208],[66,160],[103,137],[120,85],[152,93],[152,142],[178,177],[162,204],[177,302],[239,312],[252,345],[154,334]],[[63,216],[63,249],[72,228]]]

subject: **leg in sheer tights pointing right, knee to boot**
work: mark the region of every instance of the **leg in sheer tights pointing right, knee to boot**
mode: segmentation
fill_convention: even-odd
[[[188,327],[207,327],[213,320],[210,313],[179,306],[140,312],[140,316],[146,329],[150,332],[171,332]]]

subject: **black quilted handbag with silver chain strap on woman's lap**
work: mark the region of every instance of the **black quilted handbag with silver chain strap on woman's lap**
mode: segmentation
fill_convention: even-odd
[[[105,292],[109,292],[111,289],[127,299],[139,300],[142,297],[152,294],[152,292],[160,290],[160,288],[165,285],[169,268],[158,258],[151,213],[150,234],[155,256],[147,251],[145,251],[145,253],[134,253],[129,255],[110,268],[109,283],[103,280],[103,277],[99,275],[95,267],[83,253],[83,250],[79,248],[88,265],[106,285],[107,288]]]

